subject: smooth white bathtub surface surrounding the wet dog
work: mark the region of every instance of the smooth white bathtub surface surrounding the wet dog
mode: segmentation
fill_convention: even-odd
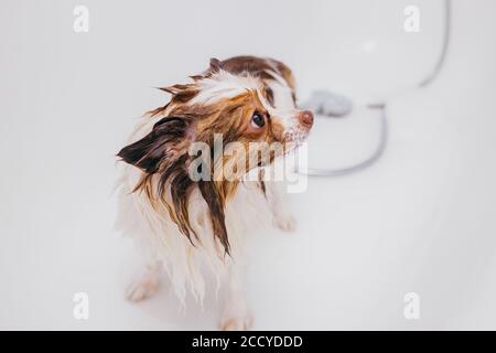
[[[2,1],[0,11],[0,329],[215,329],[219,303],[186,313],[166,285],[123,298],[136,270],[112,231],[115,153],[138,117],[211,56],[273,56],[300,97],[328,88],[388,99],[382,159],[311,178],[291,196],[298,232],[257,244],[255,329],[496,329],[496,3],[454,0],[452,42],[433,67],[441,1]],[[89,9],[89,33],[73,9]],[[403,31],[403,9],[421,31]],[[377,120],[319,119],[311,162],[365,157]],[[73,318],[89,295],[90,317]],[[403,317],[403,296],[421,319]]]

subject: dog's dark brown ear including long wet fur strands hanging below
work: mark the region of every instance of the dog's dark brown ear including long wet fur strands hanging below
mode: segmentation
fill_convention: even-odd
[[[198,235],[192,228],[188,216],[188,197],[194,186],[186,169],[187,141],[191,120],[184,117],[165,117],[159,120],[151,132],[142,139],[122,148],[118,157],[126,163],[141,169],[145,175],[136,190],[145,188],[145,181],[154,173],[161,173],[157,192],[163,199],[165,184],[170,184],[170,203],[165,201],[171,218],[193,244],[192,236]],[[224,221],[224,199],[213,181],[197,182],[203,199],[208,205],[214,236],[229,255],[229,242]]]

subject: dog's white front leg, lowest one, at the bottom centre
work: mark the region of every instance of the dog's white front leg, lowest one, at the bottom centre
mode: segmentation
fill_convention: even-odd
[[[220,320],[222,330],[242,331],[251,328],[254,319],[248,309],[244,281],[245,265],[238,261],[231,264],[228,272],[227,298]]]

